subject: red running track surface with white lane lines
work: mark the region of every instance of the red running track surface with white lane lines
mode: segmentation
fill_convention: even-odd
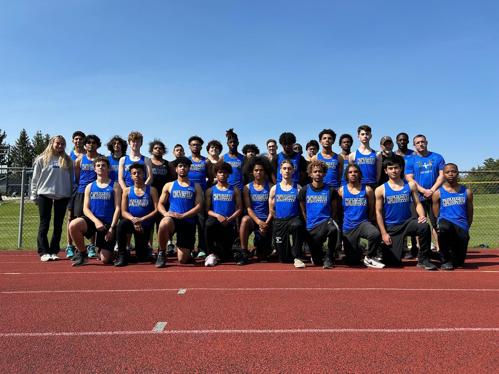
[[[499,249],[463,268],[0,252],[0,373],[498,373]]]

